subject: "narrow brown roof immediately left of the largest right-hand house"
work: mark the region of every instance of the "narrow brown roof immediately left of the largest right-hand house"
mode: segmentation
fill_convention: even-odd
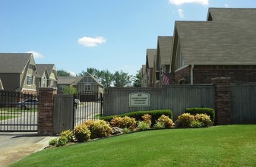
[[[172,36],[158,36],[158,46],[161,58],[160,65],[169,65],[172,52]]]

